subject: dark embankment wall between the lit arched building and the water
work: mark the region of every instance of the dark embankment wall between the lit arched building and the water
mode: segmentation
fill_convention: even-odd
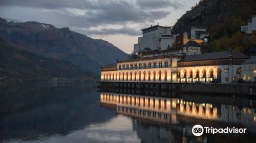
[[[99,82],[99,88],[128,88],[140,90],[175,91],[189,94],[226,94],[256,96],[256,84],[236,83],[150,83],[150,82]]]

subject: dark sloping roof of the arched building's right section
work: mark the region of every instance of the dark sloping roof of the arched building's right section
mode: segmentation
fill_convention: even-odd
[[[232,55],[234,59],[248,59],[249,57],[236,52],[232,51]],[[201,61],[201,60],[213,60],[213,59],[227,59],[229,58],[229,51],[222,51],[222,52],[213,52],[213,53],[205,53],[199,55],[189,55],[186,56],[184,59],[180,60],[179,62],[186,62],[186,61]]]

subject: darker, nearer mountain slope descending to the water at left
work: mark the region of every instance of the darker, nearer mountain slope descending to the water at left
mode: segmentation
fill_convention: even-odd
[[[66,80],[95,81],[96,75],[70,61],[39,57],[25,50],[15,49],[0,39],[0,78],[2,80]]]

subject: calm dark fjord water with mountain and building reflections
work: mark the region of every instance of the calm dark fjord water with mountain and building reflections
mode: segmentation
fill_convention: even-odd
[[[0,103],[0,142],[254,142],[256,136],[256,101],[250,97],[0,82]],[[196,137],[196,124],[247,132]]]

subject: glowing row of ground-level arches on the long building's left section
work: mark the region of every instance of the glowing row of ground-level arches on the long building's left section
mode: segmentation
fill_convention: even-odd
[[[103,81],[167,81],[167,70],[162,73],[157,71],[134,71],[134,72],[119,72],[103,74]]]

